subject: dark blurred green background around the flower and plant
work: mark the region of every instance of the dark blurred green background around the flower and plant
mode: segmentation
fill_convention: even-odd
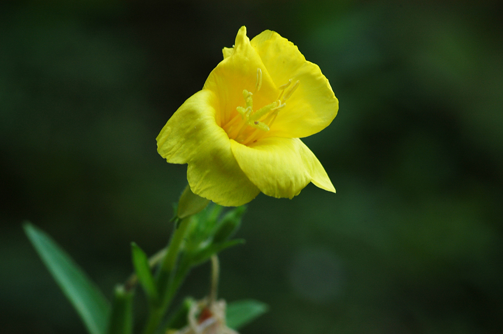
[[[259,195],[246,244],[222,253],[220,296],[270,305],[241,332],[502,332],[500,2],[69,3],[0,5],[3,333],[85,332],[24,219],[109,298],[130,241],[165,245],[186,166],[155,137],[242,25],[293,41],[340,110],[304,140],[337,194]],[[208,273],[179,297],[202,297]]]

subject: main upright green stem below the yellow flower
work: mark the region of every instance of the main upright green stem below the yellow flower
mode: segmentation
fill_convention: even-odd
[[[162,317],[174,296],[174,289],[170,287],[170,285],[173,283],[174,269],[180,252],[180,245],[182,244],[190,222],[191,217],[182,219],[178,228],[173,233],[169,245],[167,246],[166,255],[162,260],[156,277],[160,303],[150,305],[150,314],[148,316],[145,329],[143,330],[143,334],[152,334],[157,330],[160,322],[162,321]]]

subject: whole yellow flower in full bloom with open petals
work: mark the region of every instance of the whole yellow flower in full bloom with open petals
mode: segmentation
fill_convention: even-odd
[[[335,192],[299,139],[328,126],[339,102],[318,65],[266,30],[251,41],[241,27],[201,91],[173,114],[157,151],[187,163],[194,194],[238,206],[260,192],[292,198],[309,182]]]

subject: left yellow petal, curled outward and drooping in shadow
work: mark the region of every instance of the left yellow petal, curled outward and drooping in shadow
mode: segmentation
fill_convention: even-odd
[[[225,131],[215,121],[218,101],[202,90],[190,97],[157,136],[157,151],[171,163],[188,163],[194,194],[225,206],[248,203],[259,194],[239,168]]]

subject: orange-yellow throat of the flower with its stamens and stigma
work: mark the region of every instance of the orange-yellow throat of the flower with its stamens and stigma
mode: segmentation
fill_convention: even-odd
[[[243,99],[245,107],[236,107],[237,114],[225,124],[222,128],[227,132],[230,139],[247,145],[256,142],[265,132],[271,129],[281,109],[285,108],[286,101],[292,96],[293,92],[299,87],[300,81],[297,80],[292,85],[292,79],[278,87],[281,91],[278,98],[273,102],[260,108],[257,111],[253,109],[253,93],[243,90]],[[255,93],[262,87],[262,70],[257,68],[257,84]],[[287,90],[288,89],[288,90]]]

